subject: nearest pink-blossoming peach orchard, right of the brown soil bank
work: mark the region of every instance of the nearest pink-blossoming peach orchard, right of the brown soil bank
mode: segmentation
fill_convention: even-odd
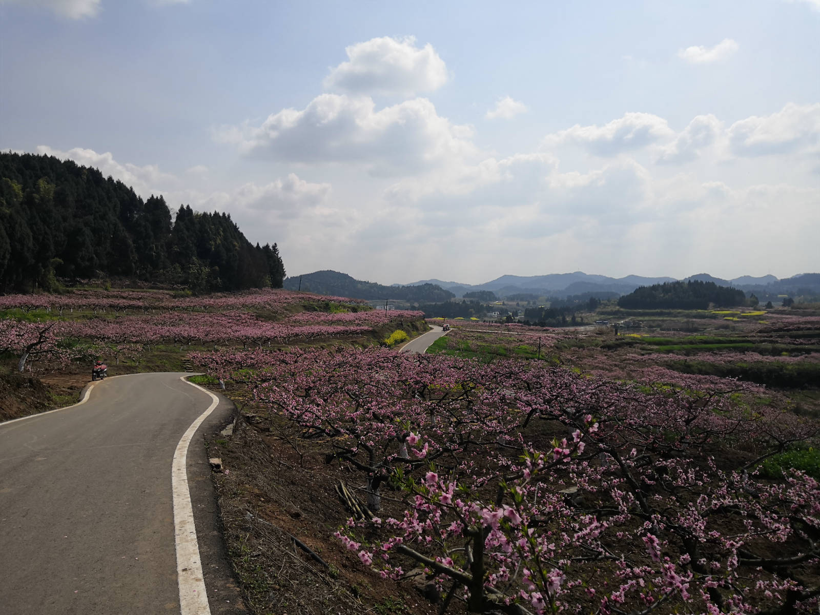
[[[423,567],[471,612],[818,608],[818,482],[757,470],[818,424],[750,385],[376,348],[194,358],[360,472],[369,512],[337,535],[362,563]]]

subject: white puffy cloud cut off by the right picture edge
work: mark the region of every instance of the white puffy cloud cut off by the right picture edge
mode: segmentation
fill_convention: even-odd
[[[736,121],[728,137],[732,153],[738,156],[820,153],[820,103],[789,103],[770,116]]]

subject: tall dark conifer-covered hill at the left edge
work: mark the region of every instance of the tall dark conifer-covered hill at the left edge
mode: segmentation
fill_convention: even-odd
[[[98,276],[233,290],[281,287],[285,267],[276,244],[254,246],[225,213],[172,215],[97,169],[0,153],[0,292]]]

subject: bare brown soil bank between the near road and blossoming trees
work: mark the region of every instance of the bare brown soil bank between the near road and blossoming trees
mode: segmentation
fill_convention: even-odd
[[[252,613],[437,612],[414,583],[380,578],[334,537],[350,516],[335,485],[345,481],[356,491],[362,486],[358,472],[326,464],[317,447],[298,440],[285,424],[253,414],[237,417],[233,435],[217,435],[207,445],[209,457],[222,460],[223,471],[213,476],[225,542]],[[383,496],[383,514],[389,514],[389,495]],[[458,613],[455,606],[449,613]]]

